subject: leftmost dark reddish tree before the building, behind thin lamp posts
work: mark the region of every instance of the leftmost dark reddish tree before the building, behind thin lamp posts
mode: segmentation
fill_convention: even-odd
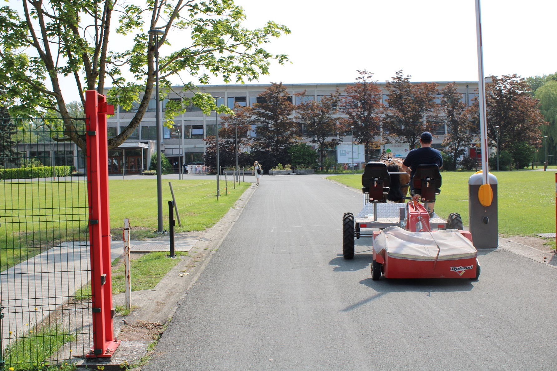
[[[246,151],[240,151],[242,147],[248,146],[250,138],[248,133],[251,129],[251,108],[241,107],[236,103],[234,107],[236,115],[221,116],[218,130],[218,160],[219,165],[223,167],[236,167],[236,127],[238,129],[238,166],[251,166],[251,155]],[[217,141],[216,136],[207,136],[204,139],[206,143],[205,164],[212,171],[216,171],[217,167]]]

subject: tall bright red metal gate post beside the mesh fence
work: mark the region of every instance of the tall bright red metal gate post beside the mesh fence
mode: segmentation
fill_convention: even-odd
[[[114,341],[106,115],[114,115],[114,106],[106,103],[106,96],[95,90],[87,90],[87,197],[93,325],[93,347],[86,355],[89,358],[112,357],[120,345],[120,342]]]

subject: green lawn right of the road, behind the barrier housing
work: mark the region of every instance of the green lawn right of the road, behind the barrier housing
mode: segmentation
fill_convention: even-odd
[[[462,215],[468,224],[468,178],[474,171],[444,171],[441,194],[435,212],[446,218],[451,212]],[[492,172],[499,185],[499,233],[505,236],[530,236],[555,232],[555,172]],[[337,175],[328,179],[361,188],[361,175]]]

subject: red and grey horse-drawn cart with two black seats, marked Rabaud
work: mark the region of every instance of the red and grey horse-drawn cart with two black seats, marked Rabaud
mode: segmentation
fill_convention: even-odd
[[[412,182],[412,196],[423,202],[387,203],[390,176],[382,162],[369,162],[362,175],[364,207],[356,217],[343,216],[343,255],[354,258],[354,240],[371,238],[372,279],[385,278],[471,278],[480,275],[472,235],[463,231],[457,213],[441,219],[427,211],[441,190],[437,165],[420,165]]]

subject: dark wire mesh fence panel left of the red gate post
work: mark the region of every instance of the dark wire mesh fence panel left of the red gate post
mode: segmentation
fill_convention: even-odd
[[[7,367],[83,357],[92,328],[85,121],[0,118],[0,349]],[[2,317],[0,315],[0,317]]]

